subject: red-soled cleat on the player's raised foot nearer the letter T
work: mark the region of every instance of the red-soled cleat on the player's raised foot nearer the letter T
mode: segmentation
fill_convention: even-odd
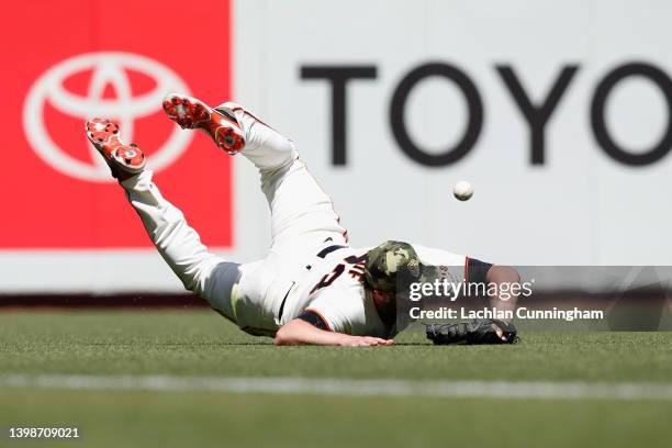
[[[243,130],[226,111],[212,109],[195,98],[170,93],[164,99],[164,112],[184,130],[201,130],[231,155],[245,147]]]

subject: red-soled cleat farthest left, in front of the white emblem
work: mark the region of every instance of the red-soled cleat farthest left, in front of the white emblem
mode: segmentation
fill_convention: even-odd
[[[122,142],[116,123],[92,119],[87,122],[86,130],[89,142],[103,156],[116,179],[128,179],[145,169],[145,154],[136,144]]]

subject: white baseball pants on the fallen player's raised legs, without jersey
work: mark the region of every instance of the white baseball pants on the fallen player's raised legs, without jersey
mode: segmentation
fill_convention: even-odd
[[[236,110],[235,116],[246,139],[242,154],[259,169],[271,211],[272,244],[265,259],[239,265],[211,254],[182,212],[161,195],[150,170],[123,181],[122,187],[184,288],[237,322],[232,293],[253,301],[283,294],[281,289],[272,291],[279,277],[303,268],[301,260],[324,247],[325,240],[347,245],[347,238],[331,198],[299,159],[293,143],[242,110]]]

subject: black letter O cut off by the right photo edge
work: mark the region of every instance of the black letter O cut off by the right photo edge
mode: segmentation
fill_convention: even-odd
[[[604,121],[604,107],[612,89],[624,78],[642,76],[649,78],[662,90],[668,103],[668,128],[661,141],[643,154],[632,154],[621,148],[609,135]],[[649,64],[626,64],[616,67],[604,77],[595,89],[591,105],[591,124],[595,139],[604,152],[614,160],[631,166],[653,164],[664,157],[672,146],[672,81],[660,68]]]

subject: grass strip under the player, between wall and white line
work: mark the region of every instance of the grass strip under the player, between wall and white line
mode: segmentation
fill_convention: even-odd
[[[514,346],[276,347],[209,311],[0,314],[0,373],[672,382],[672,333],[529,333]]]

